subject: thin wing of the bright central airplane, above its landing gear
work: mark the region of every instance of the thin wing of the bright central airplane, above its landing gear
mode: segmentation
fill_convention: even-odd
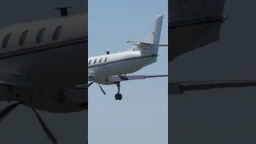
[[[107,78],[109,82],[122,82],[146,78],[159,78],[159,77],[168,77],[168,75],[156,74],[156,75],[129,75],[129,76],[113,76]]]

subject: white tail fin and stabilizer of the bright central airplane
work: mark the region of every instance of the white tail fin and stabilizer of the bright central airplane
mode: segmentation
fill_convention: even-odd
[[[160,37],[161,37],[161,31],[162,31],[162,19],[163,19],[163,15],[158,15],[158,18],[154,22],[154,26],[153,26],[153,29],[151,30],[150,35],[143,42],[128,41],[128,43],[135,45],[130,50],[141,51],[141,53],[145,55],[148,55],[148,54],[157,55],[158,46],[168,46],[166,44],[159,43]]]

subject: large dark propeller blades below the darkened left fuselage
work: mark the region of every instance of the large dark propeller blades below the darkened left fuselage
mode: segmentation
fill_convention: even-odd
[[[14,104],[11,104],[10,106],[6,106],[5,108],[3,108],[0,111],[0,122],[6,118],[6,116],[8,114],[10,114],[10,112],[12,112],[17,106],[19,106],[20,104],[22,104],[21,102],[16,102]],[[49,128],[46,126],[45,122],[43,122],[42,118],[40,117],[40,115],[38,114],[38,112],[34,109],[32,109],[34,111],[34,114],[36,115],[36,117],[38,118],[38,121],[40,123],[40,125],[42,126],[42,129],[44,130],[44,132],[46,133],[47,137],[50,138],[50,141],[53,142],[54,144],[57,144],[57,139],[54,137],[54,134],[52,134],[49,130]]]

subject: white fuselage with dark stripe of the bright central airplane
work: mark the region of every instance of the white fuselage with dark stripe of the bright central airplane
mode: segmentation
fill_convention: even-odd
[[[98,83],[103,85],[112,85],[113,82],[106,82],[105,78],[131,74],[138,70],[141,70],[144,66],[148,66],[151,63],[157,61],[158,55],[150,54],[143,55],[140,51],[125,51],[115,54],[100,55],[97,57],[88,58],[88,62],[92,63],[88,66],[89,72],[96,74]],[[96,59],[96,62],[94,63]],[[101,62],[99,60],[102,59]],[[106,62],[105,62],[106,59]]]

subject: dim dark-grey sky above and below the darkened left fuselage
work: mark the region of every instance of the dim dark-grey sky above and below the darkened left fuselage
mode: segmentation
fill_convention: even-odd
[[[10,0],[0,5],[0,26],[17,22],[30,22],[43,18],[59,17],[59,11],[54,7],[74,6],[70,14],[85,13],[87,11],[85,0]],[[0,109],[7,102],[0,103]],[[87,134],[85,111],[73,114],[50,114],[39,112],[46,125],[58,138],[59,144],[85,144]],[[33,111],[26,106],[19,106],[0,123],[1,144],[50,144],[43,133]]]

